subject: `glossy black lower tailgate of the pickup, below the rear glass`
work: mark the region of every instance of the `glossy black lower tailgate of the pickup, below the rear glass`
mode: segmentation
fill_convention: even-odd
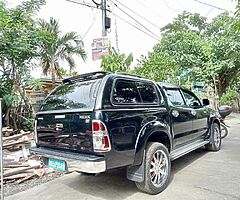
[[[92,112],[38,114],[38,146],[77,152],[92,151],[91,114]]]

